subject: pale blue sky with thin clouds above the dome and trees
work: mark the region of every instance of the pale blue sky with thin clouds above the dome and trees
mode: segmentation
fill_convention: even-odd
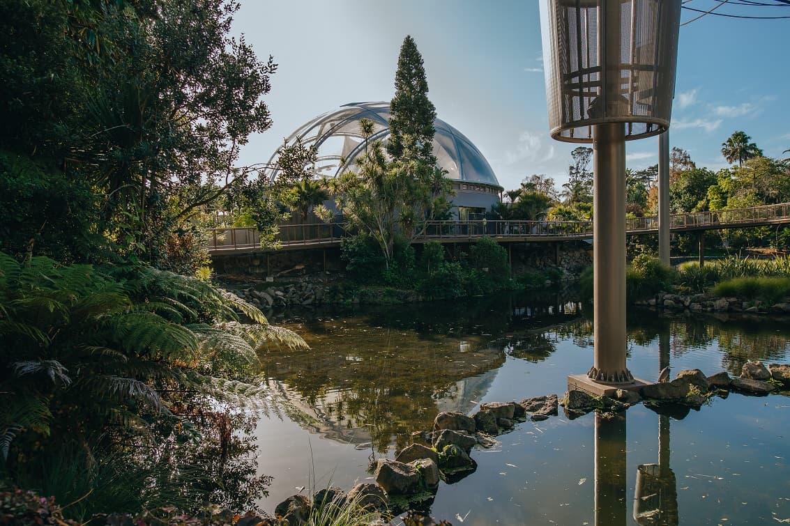
[[[551,139],[538,0],[240,0],[233,25],[279,68],[265,96],[273,126],[250,137],[243,165],[269,160],[305,122],[342,104],[392,99],[404,36],[417,43],[438,118],[483,153],[506,190],[532,174],[567,181],[577,144]],[[716,0],[684,6],[707,11]],[[781,7],[717,12],[790,16]],[[770,14],[768,14],[770,13]],[[684,9],[681,23],[699,13]],[[743,130],[766,156],[790,148],[790,19],[713,15],[680,28],[670,145],[698,166],[728,164],[721,144]],[[626,143],[628,167],[657,163],[656,137]]]

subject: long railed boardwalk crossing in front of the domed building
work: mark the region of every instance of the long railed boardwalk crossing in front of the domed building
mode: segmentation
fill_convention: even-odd
[[[790,224],[790,203],[755,206],[746,209],[693,212],[671,216],[672,232],[722,230],[726,228],[766,227]],[[657,217],[636,217],[626,221],[627,235],[658,233]],[[210,254],[256,252],[261,249],[253,227],[209,229]],[[340,224],[283,225],[280,250],[339,246]],[[415,242],[470,242],[490,237],[498,242],[545,242],[592,239],[592,221],[431,221]]]

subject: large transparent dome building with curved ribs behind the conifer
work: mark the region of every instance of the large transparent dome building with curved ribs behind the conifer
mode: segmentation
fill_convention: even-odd
[[[386,102],[345,104],[307,122],[287,141],[292,144],[299,138],[304,145],[317,145],[316,175],[337,177],[353,167],[356,156],[365,151],[365,140],[359,130],[362,118],[374,122],[370,141],[386,142],[389,137],[389,103]],[[438,165],[447,171],[446,177],[453,181],[456,196],[451,198],[458,219],[473,219],[491,209],[503,190],[491,165],[472,141],[453,126],[437,118],[434,129],[434,156]],[[276,166],[276,157],[275,152],[269,166]],[[269,178],[276,179],[278,171],[269,171]]]

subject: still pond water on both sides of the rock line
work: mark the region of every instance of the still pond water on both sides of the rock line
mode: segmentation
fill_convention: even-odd
[[[272,511],[288,495],[370,482],[439,411],[566,391],[592,364],[592,323],[559,296],[502,296],[418,306],[273,316],[310,351],[262,356],[287,404],[261,418],[259,470],[273,475]],[[628,364],[655,381],[701,369],[739,374],[747,359],[790,363],[790,320],[662,317],[634,310]],[[434,517],[453,524],[790,523],[790,398],[713,397],[660,415],[638,404],[619,419],[562,415],[519,423],[476,472],[441,483]],[[634,518],[634,517],[639,517]]]

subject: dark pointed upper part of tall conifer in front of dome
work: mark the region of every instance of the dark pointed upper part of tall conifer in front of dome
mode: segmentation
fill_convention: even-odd
[[[389,141],[387,151],[395,160],[416,156],[426,167],[434,167],[434,120],[436,107],[428,99],[423,56],[411,36],[406,36],[397,59],[395,96],[389,103]],[[408,139],[415,148],[409,148]]]

